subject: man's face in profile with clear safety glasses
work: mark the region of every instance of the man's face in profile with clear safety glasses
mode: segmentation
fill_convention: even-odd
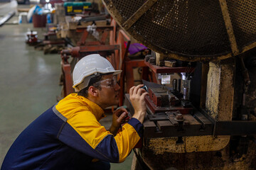
[[[117,84],[117,77],[113,74],[104,75],[99,82],[101,90],[98,93],[98,99],[102,106],[115,106],[119,104],[120,86]]]

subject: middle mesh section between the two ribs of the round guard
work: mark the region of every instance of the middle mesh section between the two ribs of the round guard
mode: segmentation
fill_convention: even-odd
[[[230,51],[219,4],[212,2],[210,8],[205,4],[209,3],[157,1],[132,29],[168,52],[215,55]]]

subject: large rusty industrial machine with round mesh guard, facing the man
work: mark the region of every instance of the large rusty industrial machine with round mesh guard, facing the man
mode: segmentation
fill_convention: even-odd
[[[134,149],[132,169],[256,169],[256,2],[103,2],[119,26],[156,52],[145,64],[161,81],[181,76],[178,93],[178,79],[171,89],[144,81],[143,147]],[[196,69],[188,76],[189,64],[160,67],[170,59],[196,62]]]

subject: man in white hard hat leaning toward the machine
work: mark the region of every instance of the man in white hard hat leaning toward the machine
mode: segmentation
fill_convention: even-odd
[[[99,120],[104,108],[118,105],[119,85],[110,62],[100,55],[83,57],[73,70],[70,94],[40,115],[21,132],[6,154],[1,170],[110,169],[123,162],[142,137],[146,113],[143,85],[129,90],[134,115],[122,128],[127,110],[114,111],[107,131]]]

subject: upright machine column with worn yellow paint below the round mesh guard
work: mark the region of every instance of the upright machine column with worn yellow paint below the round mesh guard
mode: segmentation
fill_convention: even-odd
[[[209,63],[206,111],[216,120],[232,120],[234,64]]]

